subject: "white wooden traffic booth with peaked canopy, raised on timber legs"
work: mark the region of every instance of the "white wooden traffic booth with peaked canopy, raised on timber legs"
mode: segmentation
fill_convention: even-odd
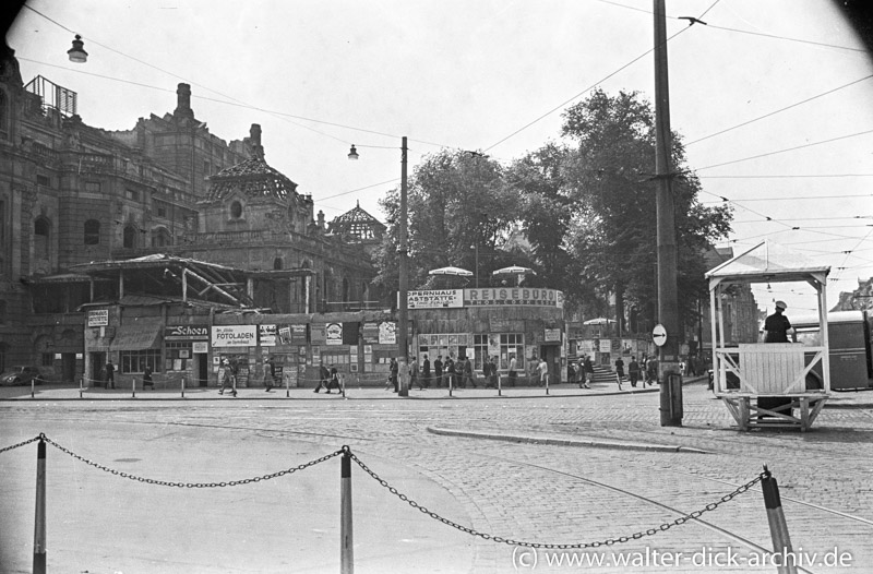
[[[762,427],[809,429],[830,393],[827,340],[827,275],[802,255],[765,241],[706,273],[713,336],[714,392],[740,430]],[[818,302],[821,345],[725,340],[723,300],[736,284],[804,282]],[[788,318],[789,321],[790,310]],[[820,379],[811,371],[820,366]]]

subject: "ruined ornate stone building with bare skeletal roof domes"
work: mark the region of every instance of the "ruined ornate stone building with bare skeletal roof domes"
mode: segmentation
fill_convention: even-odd
[[[107,357],[142,368],[131,354],[157,350],[164,371],[199,340],[164,328],[193,316],[385,307],[370,285],[384,226],[359,207],[315,215],[265,162],[259,125],[222,140],[187,84],[172,112],[132,130],[89,127],[77,111],[73,91],[24,84],[14,52],[0,58],[0,370],[77,381]],[[154,340],[123,335],[141,321],[163,322],[145,330]]]

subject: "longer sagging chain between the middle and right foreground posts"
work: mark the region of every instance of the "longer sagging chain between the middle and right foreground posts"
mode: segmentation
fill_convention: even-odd
[[[344,447],[344,449],[346,449],[346,447]],[[612,546],[612,545],[615,545],[615,543],[627,542],[629,540],[638,540],[639,538],[643,538],[644,536],[653,536],[655,534],[662,533],[665,530],[669,530],[673,526],[679,526],[679,525],[685,524],[686,522],[689,522],[691,519],[698,518],[705,512],[709,512],[709,511],[716,510],[720,504],[733,500],[739,494],[742,494],[743,492],[745,492],[746,490],[749,490],[750,488],[755,486],[757,482],[760,482],[766,476],[766,473],[761,473],[758,476],[756,476],[754,479],[750,480],[745,485],[743,485],[741,487],[738,487],[737,490],[734,490],[733,492],[731,492],[729,494],[725,494],[723,497],[721,497],[721,499],[719,499],[718,502],[710,502],[709,504],[707,504],[706,506],[704,506],[703,509],[701,509],[698,511],[694,511],[691,514],[686,514],[684,516],[680,516],[675,521],[673,521],[671,523],[661,524],[660,526],[658,526],[656,528],[649,528],[648,530],[634,533],[631,536],[621,536],[621,537],[618,537],[618,538],[607,538],[606,540],[601,540],[601,541],[597,541],[597,542],[579,542],[579,543],[575,543],[575,545],[547,545],[547,543],[541,543],[541,542],[527,542],[527,541],[524,541],[524,540],[513,540],[511,538],[502,538],[500,536],[493,536],[493,535],[490,535],[490,534],[487,534],[487,533],[480,533],[480,531],[478,531],[478,530],[476,530],[474,528],[468,528],[466,526],[463,526],[461,524],[452,522],[449,518],[444,518],[444,517],[440,516],[439,514],[436,514],[435,512],[429,511],[428,509],[426,509],[424,506],[422,506],[418,502],[411,500],[406,494],[399,492],[396,488],[394,488],[391,485],[388,485],[388,482],[386,480],[381,478],[374,471],[370,470],[370,468],[366,464],[363,464],[363,462],[360,458],[355,456],[354,453],[349,452],[349,456],[351,457],[352,461],[355,461],[358,464],[358,466],[360,466],[363,469],[364,473],[370,475],[376,482],[379,482],[380,485],[385,487],[388,490],[388,492],[391,492],[392,494],[396,495],[402,501],[408,503],[410,506],[412,506],[414,509],[418,510],[419,512],[421,512],[423,514],[427,514],[431,518],[433,518],[435,521],[439,521],[439,522],[441,522],[441,523],[443,523],[443,524],[445,524],[447,526],[451,526],[452,528],[455,528],[457,530],[461,530],[462,533],[466,533],[466,534],[469,534],[469,535],[473,535],[473,536],[478,536],[479,538],[483,538],[486,540],[493,540],[494,542],[505,543],[505,545],[510,545],[510,546],[521,546],[521,547],[527,547],[527,548],[545,548],[545,549],[555,549],[555,550],[571,550],[571,549],[583,549],[583,548],[598,548],[598,547],[601,547],[601,546]]]

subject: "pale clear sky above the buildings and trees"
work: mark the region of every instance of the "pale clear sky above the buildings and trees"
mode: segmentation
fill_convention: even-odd
[[[873,277],[873,61],[851,24],[828,0],[666,5],[672,130],[701,201],[734,211],[719,247],[770,240],[830,266],[832,303]],[[651,11],[649,0],[33,0],[7,43],[25,82],[76,92],[83,121],[106,130],[171,112],[189,83],[218,137],[261,124],[266,162],[316,212],[360,204],[384,220],[403,136],[410,174],[442,148],[509,165],[560,142],[562,110],[597,86],[654,103]],[[86,63],[67,58],[73,34]],[[762,309],[815,309],[810,287],[755,292]]]

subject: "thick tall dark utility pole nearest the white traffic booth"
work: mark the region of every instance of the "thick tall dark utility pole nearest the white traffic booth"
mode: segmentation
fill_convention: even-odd
[[[682,426],[682,384],[679,376],[679,294],[677,290],[675,217],[672,191],[670,84],[667,73],[665,0],[655,1],[655,162],[658,219],[658,322],[667,330],[660,347],[661,427]],[[672,376],[671,376],[672,375]],[[677,396],[678,395],[678,396]],[[678,408],[674,408],[678,404]]]

